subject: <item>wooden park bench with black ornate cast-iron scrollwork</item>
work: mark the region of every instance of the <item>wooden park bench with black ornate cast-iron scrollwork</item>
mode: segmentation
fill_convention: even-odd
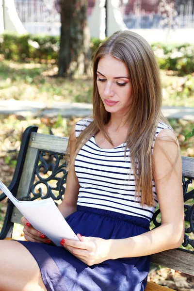
[[[34,200],[52,197],[56,204],[62,201],[66,183],[64,160],[68,138],[37,133],[37,127],[28,127],[23,134],[16,170],[9,186],[10,191],[20,200]],[[185,202],[185,237],[183,248],[152,255],[152,262],[189,275],[194,275],[194,189],[188,191],[194,179],[194,158],[182,157],[183,192]],[[0,201],[5,198],[0,195]],[[160,226],[157,210],[153,216],[154,225]],[[8,200],[7,212],[0,233],[0,239],[12,236],[14,223],[20,223],[21,213]],[[166,287],[147,283],[146,291],[169,291]]]

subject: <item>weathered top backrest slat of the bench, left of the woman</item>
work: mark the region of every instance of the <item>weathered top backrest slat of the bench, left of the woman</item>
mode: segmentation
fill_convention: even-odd
[[[65,154],[68,144],[67,137],[55,136],[50,134],[35,133],[31,134],[29,146],[39,150]]]

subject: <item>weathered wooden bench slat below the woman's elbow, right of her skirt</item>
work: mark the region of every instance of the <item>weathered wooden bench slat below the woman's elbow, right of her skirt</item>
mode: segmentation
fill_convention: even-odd
[[[151,261],[156,265],[194,275],[194,254],[180,248],[154,254]]]

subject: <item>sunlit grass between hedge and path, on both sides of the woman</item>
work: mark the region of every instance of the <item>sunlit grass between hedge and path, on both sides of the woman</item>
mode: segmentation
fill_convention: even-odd
[[[18,63],[0,60],[1,99],[33,100],[45,103],[53,101],[91,103],[90,78],[55,78],[56,65]],[[186,77],[174,76],[161,70],[163,105],[194,106],[194,88],[187,90]]]

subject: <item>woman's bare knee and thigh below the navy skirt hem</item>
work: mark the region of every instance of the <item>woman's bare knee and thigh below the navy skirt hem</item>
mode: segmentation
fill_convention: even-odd
[[[47,291],[36,260],[19,242],[0,241],[0,291]]]

